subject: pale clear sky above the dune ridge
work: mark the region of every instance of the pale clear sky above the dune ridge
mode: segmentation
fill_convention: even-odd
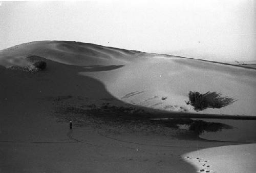
[[[256,60],[253,0],[0,2],[0,50],[91,42],[217,61]]]

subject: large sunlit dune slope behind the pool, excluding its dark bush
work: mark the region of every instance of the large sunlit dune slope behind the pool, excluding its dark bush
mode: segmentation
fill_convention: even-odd
[[[185,103],[188,92],[211,91],[237,101],[200,113],[255,115],[256,112],[254,69],[73,41],[36,41],[5,49],[0,53],[0,64],[6,68],[27,66],[25,58],[30,55],[81,66],[77,73],[100,80],[114,97],[127,103],[195,112]]]

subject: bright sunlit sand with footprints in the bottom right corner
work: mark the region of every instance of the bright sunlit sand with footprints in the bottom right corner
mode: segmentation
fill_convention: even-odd
[[[231,145],[201,149],[184,158],[198,172],[255,172],[255,152],[255,144]]]

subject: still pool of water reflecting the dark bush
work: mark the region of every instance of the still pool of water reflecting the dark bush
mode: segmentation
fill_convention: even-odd
[[[256,120],[164,118],[167,127],[194,132],[200,138],[230,142],[256,142]]]

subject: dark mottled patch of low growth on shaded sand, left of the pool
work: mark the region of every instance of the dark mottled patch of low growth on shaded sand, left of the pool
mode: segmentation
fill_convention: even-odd
[[[109,103],[101,105],[58,107],[55,116],[60,122],[72,120],[74,126],[91,126],[106,133],[153,133],[160,135],[176,135],[164,124],[151,121],[150,112],[130,106],[116,106]]]

